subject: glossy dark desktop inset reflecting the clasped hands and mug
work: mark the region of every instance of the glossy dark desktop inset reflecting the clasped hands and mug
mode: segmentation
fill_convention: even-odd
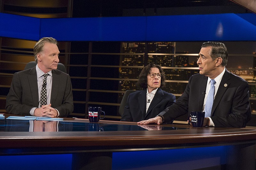
[[[63,122],[38,120],[0,119],[0,132],[70,132],[70,131],[140,131],[140,130],[177,130],[187,128],[167,126],[145,126],[127,124],[104,124],[89,122]]]

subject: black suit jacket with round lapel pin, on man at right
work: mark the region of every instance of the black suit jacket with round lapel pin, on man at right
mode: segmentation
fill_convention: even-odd
[[[191,111],[202,111],[207,79],[199,73],[191,76],[181,97],[159,115],[168,121]],[[226,69],[212,105],[211,119],[215,127],[245,127],[251,117],[247,81]]]

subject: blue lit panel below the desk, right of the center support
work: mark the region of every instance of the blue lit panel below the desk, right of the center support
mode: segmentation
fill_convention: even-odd
[[[112,170],[199,169],[224,165],[226,164],[227,147],[113,152]]]

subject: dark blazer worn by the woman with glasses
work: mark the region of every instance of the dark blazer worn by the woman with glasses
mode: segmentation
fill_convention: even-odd
[[[139,122],[156,117],[156,115],[166,107],[171,106],[176,100],[173,94],[167,93],[161,88],[158,88],[146,113],[146,95],[147,89],[129,94],[121,121]]]

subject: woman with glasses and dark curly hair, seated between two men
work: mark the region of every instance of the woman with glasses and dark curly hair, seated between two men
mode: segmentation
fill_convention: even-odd
[[[172,93],[163,91],[165,74],[161,66],[150,63],[139,75],[136,85],[143,90],[129,94],[121,121],[139,122],[156,117],[175,102]]]

